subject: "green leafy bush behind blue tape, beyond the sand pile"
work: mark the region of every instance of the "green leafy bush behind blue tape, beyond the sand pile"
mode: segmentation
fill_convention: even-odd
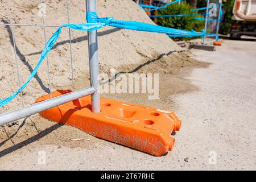
[[[189,3],[175,3],[168,6],[166,9],[158,11],[158,15],[180,15],[180,14],[198,14],[196,11],[192,11],[192,7]],[[196,16],[199,17],[199,16]],[[157,24],[164,27],[177,28],[180,30],[195,30],[202,31],[204,29],[204,21],[194,20],[195,16],[173,16],[173,17],[159,17],[157,18]],[[175,38],[175,40],[181,40],[182,38]],[[183,40],[191,38],[183,38]]]

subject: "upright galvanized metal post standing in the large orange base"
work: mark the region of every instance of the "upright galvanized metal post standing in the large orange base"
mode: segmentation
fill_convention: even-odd
[[[86,12],[96,11],[96,0],[86,0]],[[90,85],[96,90],[92,94],[92,112],[100,113],[100,84],[98,81],[98,40],[97,30],[88,31]]]

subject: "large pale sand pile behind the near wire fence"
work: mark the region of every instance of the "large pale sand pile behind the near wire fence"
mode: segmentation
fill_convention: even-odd
[[[40,1],[10,1],[11,23],[43,24],[38,15]],[[45,1],[47,25],[68,23],[64,0]],[[71,23],[85,22],[85,1],[69,1]],[[0,1],[0,22],[8,23],[7,1]],[[98,0],[98,16],[114,16],[115,19],[137,20],[153,23],[144,11],[131,0]],[[56,31],[56,27],[46,30],[47,40]],[[32,69],[38,63],[44,46],[42,27],[13,27],[17,48],[17,59],[22,84],[27,80]],[[88,45],[84,31],[72,31],[72,51],[74,77],[77,79],[88,74]],[[180,51],[168,36],[150,32],[119,30],[105,27],[98,31],[99,61],[101,67],[120,67],[121,65],[139,64],[145,58],[152,58],[172,51]],[[49,52],[48,60],[51,72],[52,89],[71,85],[71,61],[68,29],[64,28],[57,44]],[[0,98],[10,96],[18,87],[14,49],[10,27],[0,26]],[[83,76],[82,76],[83,77]],[[77,88],[77,86],[76,86]],[[48,92],[47,61],[44,60],[38,74],[23,92],[24,104],[32,104],[36,98]],[[0,113],[20,107],[20,98],[0,108]]]

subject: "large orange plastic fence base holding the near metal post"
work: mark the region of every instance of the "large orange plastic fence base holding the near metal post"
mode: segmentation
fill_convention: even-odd
[[[69,93],[58,90],[52,97]],[[48,100],[49,94],[36,100]],[[92,113],[90,96],[42,111],[42,117],[67,123],[95,137],[160,156],[172,150],[181,121],[170,111],[101,98],[101,113]]]

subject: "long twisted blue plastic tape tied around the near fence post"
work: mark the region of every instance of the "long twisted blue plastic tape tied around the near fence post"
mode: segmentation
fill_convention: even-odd
[[[40,55],[40,59],[38,64],[36,64],[34,70],[32,71],[31,75],[28,77],[27,81],[21,86],[19,90],[17,90],[14,94],[10,97],[5,98],[4,100],[0,101],[0,107],[6,105],[14,97],[16,97],[22,90],[29,84],[31,79],[35,76],[36,72],[38,71],[40,64],[46,57],[47,53],[51,50],[53,45],[56,43],[57,39],[59,38],[60,32],[63,27],[68,27],[73,30],[80,30],[80,31],[93,31],[103,28],[105,26],[112,26],[118,28],[125,28],[129,30],[137,30],[137,31],[146,31],[146,32],[157,32],[162,34],[168,34],[168,36],[204,36],[205,32],[196,32],[196,31],[187,31],[187,30],[178,30],[175,28],[168,28],[157,26],[155,24],[148,24],[142,22],[133,22],[133,21],[125,21],[125,20],[115,20],[113,17],[105,17],[105,18],[98,18],[96,12],[88,12],[86,14],[86,20],[88,23],[80,23],[80,24],[63,24],[60,26],[57,31],[51,36],[51,38],[47,41],[46,46],[44,46],[43,51]]]

